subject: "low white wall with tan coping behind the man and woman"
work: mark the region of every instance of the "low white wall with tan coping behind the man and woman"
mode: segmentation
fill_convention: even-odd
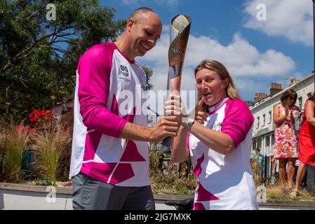
[[[156,210],[175,210],[166,200],[187,196],[154,195]],[[0,183],[0,210],[72,210],[72,189]],[[315,210],[315,202],[276,201],[260,203],[260,210]]]

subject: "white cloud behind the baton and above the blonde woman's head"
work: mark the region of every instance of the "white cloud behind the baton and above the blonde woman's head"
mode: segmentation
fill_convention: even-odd
[[[166,90],[169,45],[169,31],[163,29],[161,40],[158,41],[156,47],[147,52],[145,57],[137,58],[140,64],[152,68],[154,75],[150,83],[154,85],[154,91]],[[190,35],[182,70],[182,90],[195,89],[194,69],[203,59],[215,59],[222,62],[231,73],[236,88],[248,92],[245,99],[251,99],[255,90],[264,89],[263,84],[257,88],[258,85],[254,78],[263,79],[269,85],[274,80],[286,77],[295,70],[293,59],[273,49],[260,52],[254,45],[250,45],[241,34],[234,34],[232,42],[228,45],[222,45],[206,36]],[[162,112],[159,111],[159,113]]]

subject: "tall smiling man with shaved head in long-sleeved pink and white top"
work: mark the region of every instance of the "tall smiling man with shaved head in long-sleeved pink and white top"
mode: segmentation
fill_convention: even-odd
[[[154,209],[148,144],[175,137],[175,116],[147,127],[146,75],[135,57],[156,45],[161,20],[138,8],[114,43],[94,45],[79,60],[70,178],[74,209]]]

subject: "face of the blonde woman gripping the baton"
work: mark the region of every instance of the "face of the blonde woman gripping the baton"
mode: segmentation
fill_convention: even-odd
[[[227,97],[227,85],[229,85],[229,78],[222,79],[215,71],[201,69],[196,73],[198,94],[208,106],[214,106]]]

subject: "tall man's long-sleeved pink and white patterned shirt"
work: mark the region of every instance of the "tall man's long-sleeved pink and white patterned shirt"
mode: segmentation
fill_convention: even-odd
[[[127,122],[147,126],[145,71],[114,43],[94,45],[79,60],[70,178],[83,172],[116,186],[148,186],[148,145],[120,139]]]

